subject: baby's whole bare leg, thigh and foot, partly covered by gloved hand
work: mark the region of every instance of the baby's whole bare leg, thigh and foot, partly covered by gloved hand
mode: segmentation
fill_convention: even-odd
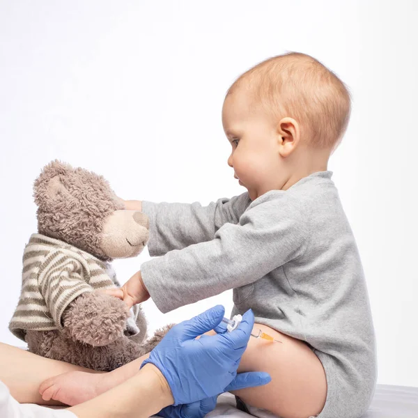
[[[238,372],[267,371],[272,376],[272,382],[263,387],[242,389],[234,394],[249,405],[270,410],[283,418],[317,415],[323,409],[327,395],[325,372],[318,357],[302,341],[265,325],[256,324],[255,327],[283,343],[270,343],[251,337]],[[40,389],[44,399],[60,399],[68,405],[77,405],[134,376],[147,357],[144,355],[119,369],[100,375],[65,373],[48,379]]]

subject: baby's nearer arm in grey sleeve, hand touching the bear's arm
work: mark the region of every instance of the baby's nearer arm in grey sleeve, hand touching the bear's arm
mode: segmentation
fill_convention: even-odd
[[[150,295],[167,313],[250,284],[302,254],[307,228],[297,201],[270,194],[246,210],[238,224],[224,224],[214,239],[142,263],[118,297],[130,305]]]

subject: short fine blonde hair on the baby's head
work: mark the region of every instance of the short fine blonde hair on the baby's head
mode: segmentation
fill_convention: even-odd
[[[294,118],[302,138],[320,148],[334,147],[346,132],[351,100],[347,86],[334,72],[307,54],[288,52],[249,69],[232,84],[226,97],[241,86],[277,123]]]

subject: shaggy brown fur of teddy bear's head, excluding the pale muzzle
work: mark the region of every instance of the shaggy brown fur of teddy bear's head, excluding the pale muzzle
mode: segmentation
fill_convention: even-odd
[[[53,179],[52,189],[49,182]],[[42,170],[33,190],[39,233],[111,260],[100,246],[100,235],[107,217],[125,207],[107,180],[91,171],[53,161]]]

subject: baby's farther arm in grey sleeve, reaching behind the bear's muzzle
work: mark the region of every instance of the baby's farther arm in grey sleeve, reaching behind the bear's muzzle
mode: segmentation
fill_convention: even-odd
[[[141,210],[148,215],[148,251],[151,256],[162,256],[173,249],[212,240],[215,232],[226,222],[238,223],[249,203],[248,193],[243,193],[231,199],[218,199],[208,206],[201,206],[199,202],[149,201],[125,201],[125,206],[128,210]]]

